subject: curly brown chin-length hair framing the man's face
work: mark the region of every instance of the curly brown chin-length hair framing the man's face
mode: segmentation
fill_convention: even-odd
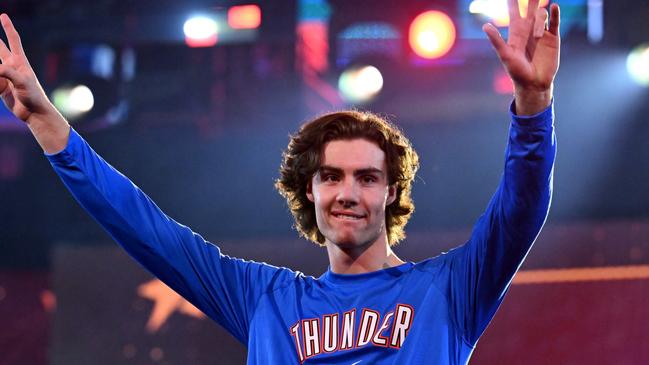
[[[327,142],[355,138],[375,142],[383,150],[388,184],[396,184],[396,199],[385,211],[388,242],[393,246],[405,238],[404,227],[415,210],[410,193],[419,169],[419,156],[399,128],[385,118],[367,111],[347,110],[304,123],[298,133],[290,136],[275,187],[286,198],[299,234],[323,246],[325,237],[316,223],[315,206],[307,198],[307,185],[320,167]]]

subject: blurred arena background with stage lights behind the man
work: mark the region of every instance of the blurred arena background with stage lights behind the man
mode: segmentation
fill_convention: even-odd
[[[522,1],[526,3],[527,1]],[[542,6],[549,6],[542,0]],[[546,227],[471,364],[649,363],[649,4],[561,0]],[[4,0],[73,127],[231,255],[319,276],[273,188],[288,136],[378,112],[418,151],[397,247],[462,244],[502,173],[511,81],[481,31],[504,0]],[[133,263],[0,108],[0,364],[242,364]]]

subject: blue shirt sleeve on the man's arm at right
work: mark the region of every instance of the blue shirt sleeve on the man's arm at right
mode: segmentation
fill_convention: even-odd
[[[469,241],[445,255],[452,316],[471,346],[494,316],[543,227],[552,197],[553,104],[529,117],[516,116],[512,104],[510,114],[505,169],[498,188]]]

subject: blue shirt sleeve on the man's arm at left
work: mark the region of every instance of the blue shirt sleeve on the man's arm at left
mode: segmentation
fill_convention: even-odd
[[[165,215],[74,131],[46,154],[75,199],[135,260],[243,344],[258,299],[296,273],[224,255]]]

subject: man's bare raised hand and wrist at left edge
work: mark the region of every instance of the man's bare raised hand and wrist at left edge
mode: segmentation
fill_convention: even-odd
[[[7,47],[0,40],[0,97],[27,124],[45,152],[58,152],[67,144],[70,126],[38,82],[9,16],[0,15],[0,22],[9,41]]]

